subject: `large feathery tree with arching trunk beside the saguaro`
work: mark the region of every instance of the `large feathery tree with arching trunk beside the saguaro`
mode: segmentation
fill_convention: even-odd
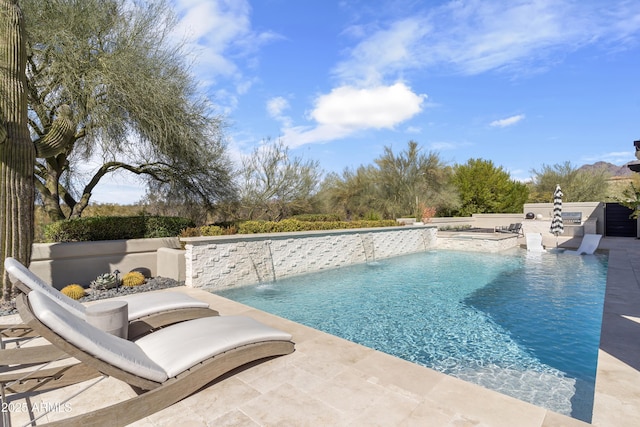
[[[233,196],[224,120],[200,95],[166,0],[20,3],[35,185],[52,220],[81,216],[116,172],[205,206]]]

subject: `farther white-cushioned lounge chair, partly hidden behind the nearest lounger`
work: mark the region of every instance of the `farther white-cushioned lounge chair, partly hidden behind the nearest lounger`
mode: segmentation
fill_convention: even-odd
[[[15,258],[6,258],[4,266],[13,280],[13,284],[22,292],[30,290],[43,293],[80,317],[85,318],[87,307],[69,298],[62,292],[42,281]],[[145,292],[127,295],[113,300],[126,301],[129,316],[128,337],[135,338],[150,330],[184,320],[217,316],[218,312],[209,308],[209,304],[180,292]],[[21,330],[22,325],[13,326],[14,335],[27,333]],[[3,335],[11,334],[11,330]]]

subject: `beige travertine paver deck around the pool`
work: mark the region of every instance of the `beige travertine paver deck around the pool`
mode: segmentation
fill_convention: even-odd
[[[609,275],[593,424],[640,420],[640,241],[604,238]],[[136,426],[579,426],[529,403],[437,373],[199,290],[222,315],[244,314],[294,336],[293,354],[252,366],[135,423]],[[79,386],[29,399],[61,402]],[[73,413],[133,396],[108,378],[73,399]],[[27,414],[12,414],[13,425]],[[69,416],[52,413],[48,419]]]

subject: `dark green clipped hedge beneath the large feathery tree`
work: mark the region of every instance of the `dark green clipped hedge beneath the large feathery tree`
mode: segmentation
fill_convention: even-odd
[[[187,218],[167,216],[94,216],[57,221],[44,229],[47,242],[174,237],[193,227]]]

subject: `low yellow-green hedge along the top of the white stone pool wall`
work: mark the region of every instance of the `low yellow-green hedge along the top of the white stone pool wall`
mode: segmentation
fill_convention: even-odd
[[[284,219],[282,221],[246,221],[240,224],[238,233],[282,233],[291,231],[339,230],[345,228],[370,228],[397,226],[395,220],[380,221],[300,221]]]

